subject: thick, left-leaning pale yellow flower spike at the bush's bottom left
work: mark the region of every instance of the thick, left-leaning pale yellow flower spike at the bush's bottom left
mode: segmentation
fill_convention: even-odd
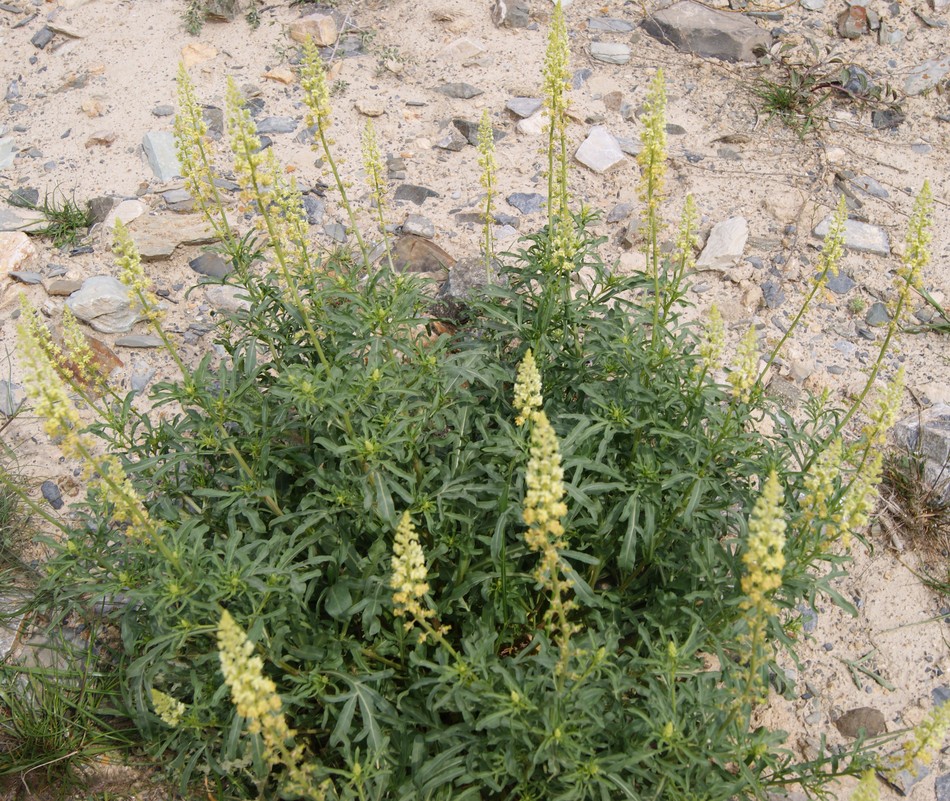
[[[222,612],[218,657],[237,713],[244,718],[250,734],[261,735],[264,758],[269,764],[283,763],[291,773],[299,772],[301,749],[292,746],[294,732],[284,718],[277,685],[264,675],[263,660],[253,654],[254,645],[244,630],[230,612]]]

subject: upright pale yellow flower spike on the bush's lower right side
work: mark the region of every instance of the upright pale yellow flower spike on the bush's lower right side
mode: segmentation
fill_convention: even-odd
[[[776,611],[769,596],[782,586],[785,568],[785,517],[782,511],[782,488],[778,474],[773,470],[765,482],[762,494],[749,517],[749,538],[742,564],[744,609],[755,610],[756,616],[767,616]]]

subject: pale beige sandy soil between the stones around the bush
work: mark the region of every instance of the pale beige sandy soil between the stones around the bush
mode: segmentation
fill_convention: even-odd
[[[341,4],[334,9],[344,35],[359,37],[362,43],[361,54],[342,58],[345,48],[341,45],[332,59],[336,150],[345,172],[356,187],[361,186],[356,132],[365,115],[359,109],[372,111],[377,106],[382,113],[375,125],[383,150],[405,159],[405,182],[439,193],[422,207],[397,205],[393,222],[401,223],[410,212],[423,214],[434,224],[435,241],[456,258],[478,252],[479,226],[460,222],[456,215],[475,210],[481,188],[474,148],[449,152],[434,146],[448,132],[453,117],[477,119],[487,108],[495,126],[506,133],[497,147],[500,197],[544,191],[540,138],[516,132],[517,120],[505,110],[505,102],[512,97],[537,97],[540,93],[550,5],[548,0],[533,0],[533,6],[534,25],[517,30],[496,28],[487,2],[393,0]],[[946,54],[946,28],[928,27],[914,13],[946,23],[946,11],[935,12],[923,0],[892,7],[878,2],[872,7],[882,16],[891,15],[893,26],[905,31],[902,42],[879,45],[872,35],[858,40],[838,37],[834,25],[845,8],[841,0],[829,0],[820,12],[802,10],[797,4],[783,6],[781,22],[760,20],[759,24],[767,30],[781,26],[786,32],[782,42],[797,42],[807,50],[807,43],[813,41],[826,58],[833,51],[844,64],[860,65],[875,81],[898,89],[913,66]],[[276,0],[262,7],[261,25],[256,30],[240,19],[227,24],[209,22],[197,37],[184,30],[183,8],[179,0],[37,0],[36,4],[5,0],[0,5],[0,76],[5,84],[16,81],[19,91],[18,98],[0,106],[0,136],[13,137],[25,153],[12,167],[0,171],[4,193],[17,187],[36,187],[41,197],[53,190],[77,199],[138,197],[148,206],[147,214],[170,218],[173,213],[165,209],[159,192],[181,186],[181,182],[160,184],[144,160],[141,142],[148,131],[171,129],[170,117],[157,117],[152,112],[157,106],[175,102],[179,59],[183,48],[196,44],[207,46],[204,57],[190,68],[203,103],[223,107],[226,80],[232,77],[263,100],[259,119],[303,116],[299,86],[272,80],[265,73],[291,66],[295,46],[287,36],[287,26],[302,13],[314,11],[314,6]],[[655,9],[655,0],[642,4],[574,0],[568,7],[572,67],[592,71],[573,93],[572,141],[579,144],[593,122],[606,125],[615,136],[638,138],[639,122],[624,119],[620,106],[638,106],[654,71],[663,68],[669,93],[668,121],[683,131],[669,137],[671,221],[687,193],[696,199],[704,233],[720,220],[742,215],[751,232],[745,256],[757,257],[765,264],[761,270],[746,263],[728,275],[703,273],[696,277],[697,287],[690,298],[698,312],[717,303],[736,336],[750,323],[764,324],[767,339],[780,336],[778,324],[794,313],[807,289],[810,265],[816,261],[820,241],[811,236],[811,230],[837,202],[836,172],[851,170],[880,182],[888,197],[861,196],[859,213],[888,231],[894,255],[846,254],[841,266],[856,287],[847,296],[829,293],[823,298],[781,371],[798,386],[847,393],[863,381],[861,367],[876,347],[858,333],[858,328],[864,327],[864,312],[856,312],[858,302],[849,301],[860,298],[866,307],[888,296],[899,266],[897,254],[902,249],[913,194],[924,180],[931,182],[936,201],[934,258],[924,284],[939,301],[950,295],[950,273],[944,269],[950,254],[950,226],[946,225],[950,123],[939,118],[950,112],[947,95],[933,91],[902,98],[907,118],[896,131],[874,129],[867,107],[829,101],[821,109],[827,119],[819,131],[799,138],[779,121],[765,119],[757,108],[753,83],[760,75],[776,78],[774,68],[769,71],[679,53],[639,29],[632,34],[596,37],[588,30],[591,16],[619,17],[636,24]],[[35,18],[14,27],[30,14],[36,14]],[[30,43],[30,37],[44,24],[71,35],[57,33],[53,42],[40,50]],[[480,43],[482,52],[469,60],[447,53],[460,37]],[[622,66],[593,61],[588,47],[595,38],[632,42],[632,59]],[[442,83],[463,81],[483,93],[460,100],[434,91]],[[619,93],[620,103],[613,93]],[[23,108],[11,110],[13,102]],[[297,130],[302,128],[301,123]],[[97,132],[113,135],[114,141],[109,146],[87,146]],[[320,180],[316,155],[307,145],[295,141],[294,134],[272,138],[280,159],[303,187]],[[576,165],[572,191],[578,203],[605,213],[621,202],[636,208],[637,179],[636,163],[629,157],[604,175]],[[362,190],[354,191],[365,207]],[[517,214],[503,200],[499,210]],[[326,221],[344,221],[332,198]],[[521,232],[529,232],[539,223],[538,215],[522,218]],[[625,250],[620,244],[625,224],[601,222],[598,230],[609,237],[606,255],[619,260],[621,267],[631,268],[640,257],[635,249]],[[57,264],[66,268],[67,278],[115,275],[103,239],[94,231],[89,240],[93,251],[75,256],[37,241],[39,252],[24,269],[42,273],[48,271],[47,265]],[[332,246],[319,228],[314,229],[314,240],[316,247]],[[148,265],[156,287],[169,291],[173,326],[177,320],[182,329],[188,322],[207,317],[210,310],[202,291],[188,292],[197,276],[187,262],[198,253],[198,248],[180,247],[170,260]],[[762,303],[761,284],[769,278],[777,280],[786,295],[776,310]],[[48,296],[42,285],[25,286],[0,276],[0,378],[13,382],[18,380],[14,318],[21,292],[54,318],[62,305],[62,298]],[[880,333],[871,330],[870,336],[879,337]],[[101,338],[106,343],[114,341],[108,335]],[[841,342],[850,345],[836,347]],[[199,357],[206,347],[201,341],[181,346],[186,358]],[[152,351],[118,349],[118,353],[124,363],[115,373],[120,385],[128,386],[131,377],[143,371],[154,369],[159,378],[169,369],[167,357]],[[888,371],[897,363],[907,370],[907,413],[916,408],[915,401],[926,405],[950,399],[946,354],[942,337],[917,334],[905,337],[902,347],[890,357]],[[829,367],[835,369],[829,371]],[[14,445],[29,474],[56,481],[67,501],[75,499],[81,487],[71,466],[59,463],[38,432],[37,421],[21,414],[3,436]],[[823,603],[814,629],[802,635],[800,664],[788,666],[797,671],[802,687],[805,681],[810,683],[814,700],[776,698],[765,713],[769,725],[790,732],[789,743],[796,749],[807,749],[810,740],[821,737],[831,743],[841,741],[832,721],[855,707],[880,709],[889,730],[913,725],[930,708],[932,690],[950,683],[944,675],[950,671],[946,623],[939,619],[945,601],[923,587],[913,574],[920,560],[933,557],[932,552],[911,549],[897,553],[887,537],[872,537],[872,541],[873,553],[864,546],[855,547],[852,573],[839,582],[839,591],[859,606],[858,616],[848,617]],[[869,652],[873,655],[862,664],[872,666],[886,684],[864,674],[857,681],[852,679],[845,663]],[[887,684],[893,689],[887,689]],[[947,765],[938,760],[930,778],[913,790],[913,797],[932,798],[934,776],[946,770]],[[882,788],[882,793],[885,798],[892,797],[887,788]]]

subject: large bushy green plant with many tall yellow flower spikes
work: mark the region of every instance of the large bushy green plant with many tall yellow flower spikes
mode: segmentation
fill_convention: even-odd
[[[233,87],[230,150],[254,229],[232,227],[182,71],[183,172],[247,298],[217,333],[223,357],[179,361],[180,378],[152,393],[163,414],[129,397],[84,429],[56,355],[30,346],[51,433],[100,476],[42,597],[111,610],[126,703],[185,793],[200,778],[221,796],[724,801],[791,783],[820,792],[872,764],[863,745],[797,763],[752,720],[800,605],[840,601],[830,582],[870,513],[899,397],[875,387],[885,353],[856,434],[843,424],[853,410],[811,403],[796,420],[764,395],[775,354],[760,356],[754,331],[716,380],[721,318],[694,328],[679,313],[691,203],[672,255],[657,247],[662,78],[644,128],[648,266],[620,276],[590,213],[571,209],[560,7],[553,20],[548,222],[452,334],[432,330],[430,287],[370,260],[368,236],[352,255],[313,247],[299,192]],[[355,226],[313,47],[302,76]],[[370,132],[385,236],[374,153]],[[920,209],[923,244],[907,252],[922,266]],[[819,282],[843,225],[839,209]],[[174,353],[119,239],[134,297]],[[492,249],[486,237],[494,270]],[[34,342],[42,324],[24,318]],[[97,456],[93,436],[115,457]]]

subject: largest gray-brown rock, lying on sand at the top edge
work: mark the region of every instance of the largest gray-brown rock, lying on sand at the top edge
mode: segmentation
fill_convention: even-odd
[[[755,61],[771,44],[768,31],[739,14],[683,0],[648,17],[643,27],[677,50],[722,61]]]

